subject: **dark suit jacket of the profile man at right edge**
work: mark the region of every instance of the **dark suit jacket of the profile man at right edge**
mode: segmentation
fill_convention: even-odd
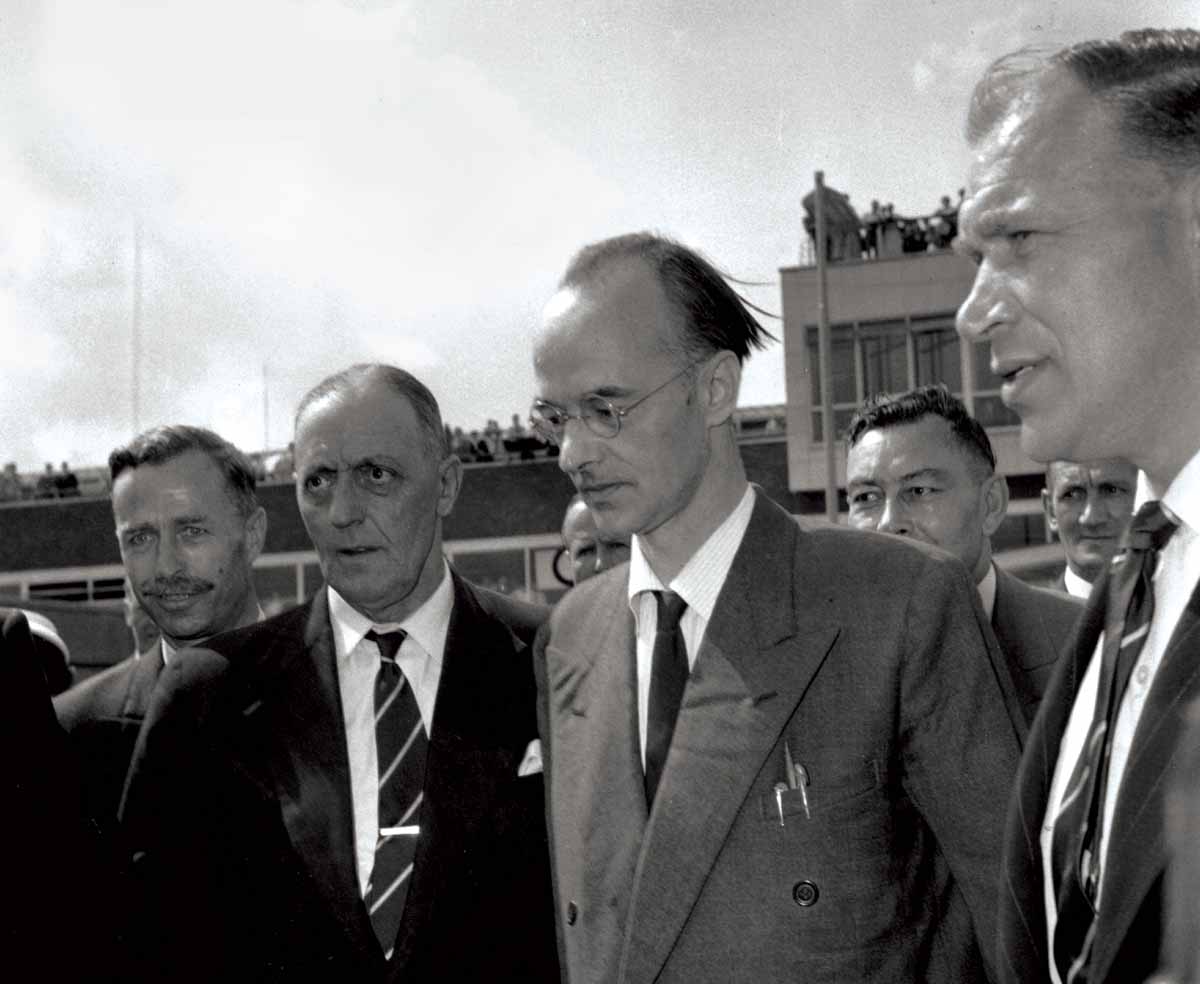
[[[1106,588],[1105,572],[1046,690],[1009,804],[998,923],[1001,979],[1013,984],[1049,979],[1039,834],[1058,745],[1104,629]],[[1168,856],[1164,788],[1181,754],[1187,704],[1198,696],[1200,590],[1171,636],[1129,751],[1109,832],[1091,984],[1145,980],[1158,966]]]

